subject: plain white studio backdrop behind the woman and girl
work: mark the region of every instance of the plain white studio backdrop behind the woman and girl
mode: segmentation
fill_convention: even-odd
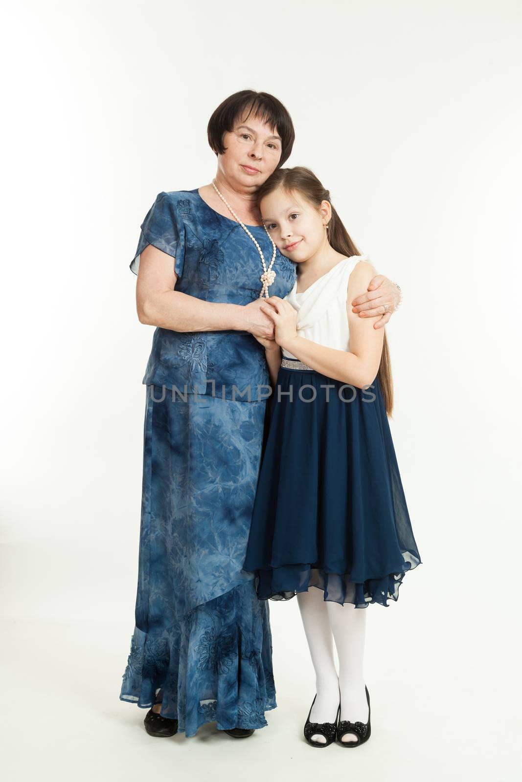
[[[2,630],[9,780],[507,780],[520,731],[520,2],[18,2],[2,15]],[[161,742],[119,701],[153,328],[128,264],[207,121],[276,95],[362,252],[397,280],[391,421],[419,551],[369,606],[372,740],[311,752],[297,601],[279,708]],[[167,774],[167,777],[165,777]]]

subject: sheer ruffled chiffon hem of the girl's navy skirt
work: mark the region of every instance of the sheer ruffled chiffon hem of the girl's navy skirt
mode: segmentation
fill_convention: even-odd
[[[281,565],[257,570],[257,597],[265,601],[287,601],[299,592],[308,592],[309,587],[317,587],[324,592],[325,601],[341,605],[351,603],[355,608],[367,608],[370,603],[378,603],[383,608],[389,608],[388,600],[398,601],[398,590],[405,574],[417,565],[422,565],[420,558],[411,551],[402,552],[402,556],[402,569],[360,582],[351,581],[349,572],[326,572],[321,567],[310,564]]]

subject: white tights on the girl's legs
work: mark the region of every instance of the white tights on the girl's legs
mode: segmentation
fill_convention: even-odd
[[[311,710],[311,723],[333,723],[340,701],[339,719],[368,722],[365,680],[362,673],[365,646],[366,612],[352,603],[341,605],[326,601],[319,587],[297,593],[304,633],[315,669],[317,697]],[[333,660],[333,640],[339,658],[339,673]],[[313,741],[326,743],[322,734]],[[357,741],[348,733],[343,741]]]

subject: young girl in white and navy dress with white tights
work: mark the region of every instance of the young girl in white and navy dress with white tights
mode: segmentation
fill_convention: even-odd
[[[371,730],[366,612],[354,609],[397,601],[421,564],[387,421],[386,335],[350,306],[376,270],[308,168],[275,170],[258,197],[272,239],[298,265],[285,299],[261,307],[275,324],[275,341],[259,339],[273,394],[243,568],[262,600],[297,594],[316,676],[304,737],[353,748]]]

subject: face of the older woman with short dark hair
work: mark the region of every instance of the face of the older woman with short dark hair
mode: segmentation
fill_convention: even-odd
[[[255,191],[275,170],[281,158],[281,138],[257,117],[240,117],[223,137],[225,152],[218,169],[235,190]]]

